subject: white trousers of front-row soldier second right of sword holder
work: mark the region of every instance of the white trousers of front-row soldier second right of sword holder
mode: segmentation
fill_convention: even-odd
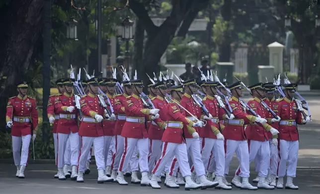
[[[217,176],[225,176],[225,146],[223,140],[217,140],[212,138],[204,138],[204,146],[201,152],[201,159],[204,166],[208,166],[211,153],[214,154],[216,160],[216,173]],[[210,161],[213,162],[213,161]],[[208,172],[208,171],[207,171]]]

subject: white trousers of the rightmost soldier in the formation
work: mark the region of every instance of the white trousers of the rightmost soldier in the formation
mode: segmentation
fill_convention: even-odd
[[[287,176],[296,177],[298,162],[299,141],[280,140],[280,162],[278,176],[286,175],[286,164],[288,161]]]

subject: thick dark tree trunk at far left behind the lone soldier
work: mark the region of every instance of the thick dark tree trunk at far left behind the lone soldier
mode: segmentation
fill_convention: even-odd
[[[0,10],[0,108],[16,94],[15,83],[30,68],[34,45],[42,29],[43,0],[11,0]],[[3,77],[6,77],[4,79]],[[0,120],[5,120],[1,111]],[[4,125],[1,125],[4,126]]]

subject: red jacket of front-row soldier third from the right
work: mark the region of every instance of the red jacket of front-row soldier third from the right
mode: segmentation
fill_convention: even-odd
[[[255,122],[256,117],[245,113],[237,97],[231,97],[229,103],[235,118],[225,123],[226,127],[223,135],[227,140],[246,140],[243,125],[247,125],[249,122]]]

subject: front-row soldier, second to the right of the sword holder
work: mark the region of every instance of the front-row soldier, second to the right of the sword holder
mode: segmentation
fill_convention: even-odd
[[[202,138],[202,161],[205,167],[209,166],[209,160],[211,154],[213,155],[212,158],[216,163],[216,176],[217,182],[219,185],[216,189],[223,189],[223,190],[231,190],[232,187],[227,186],[224,184],[225,179],[225,147],[224,147],[224,136],[220,132],[220,128],[224,129],[224,125],[219,124],[219,115],[224,114],[225,111],[221,111],[218,107],[218,101],[214,97],[217,93],[217,82],[212,81],[203,81],[201,87],[203,88],[204,92],[206,93],[206,97],[202,99],[203,104],[206,106],[210,113],[210,117],[206,115],[201,115],[202,119],[207,120],[207,125],[200,130],[200,137]],[[234,117],[231,115],[231,118]],[[221,130],[222,131],[222,130]],[[213,163],[213,161],[211,161]],[[207,168],[206,168],[207,169]]]

